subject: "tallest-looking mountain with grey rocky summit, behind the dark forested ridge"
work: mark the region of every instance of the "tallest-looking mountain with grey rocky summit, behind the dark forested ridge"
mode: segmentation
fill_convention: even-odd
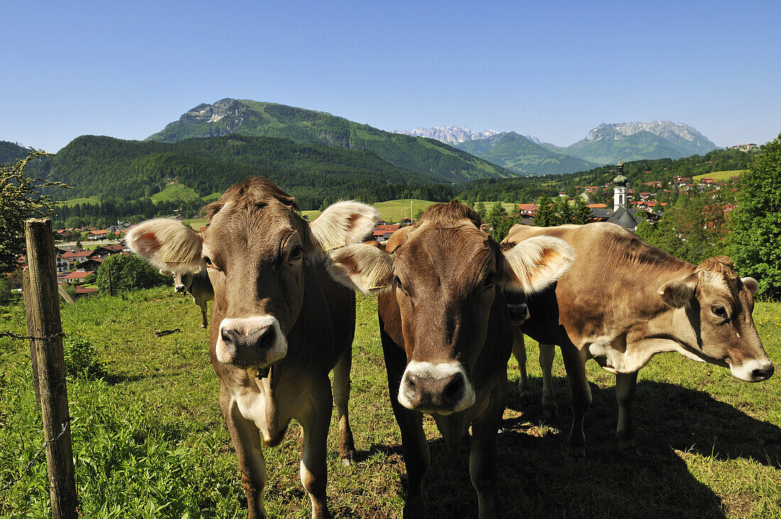
[[[173,143],[191,137],[232,133],[372,151],[397,168],[436,176],[445,182],[515,176],[508,169],[438,140],[377,130],[325,112],[246,99],[222,99],[213,105],[198,105],[147,140]]]

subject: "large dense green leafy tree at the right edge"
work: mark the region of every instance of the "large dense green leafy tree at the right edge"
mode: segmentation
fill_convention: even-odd
[[[741,275],[759,281],[765,297],[781,297],[781,134],[760,148],[743,174],[733,217],[731,253]]]

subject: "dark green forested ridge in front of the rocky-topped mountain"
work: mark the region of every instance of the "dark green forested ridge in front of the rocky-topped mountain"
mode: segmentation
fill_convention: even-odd
[[[126,201],[150,197],[171,182],[205,197],[248,175],[262,175],[299,197],[302,205],[315,208],[326,197],[355,196],[387,184],[398,188],[437,182],[433,176],[394,167],[371,151],[238,135],[177,143],[83,136],[28,167],[33,176],[73,186],[69,198]]]

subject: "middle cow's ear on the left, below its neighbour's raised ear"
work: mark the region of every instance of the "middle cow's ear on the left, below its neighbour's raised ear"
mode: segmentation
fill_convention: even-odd
[[[380,293],[393,283],[393,255],[369,244],[352,244],[330,252],[333,279],[362,293]]]

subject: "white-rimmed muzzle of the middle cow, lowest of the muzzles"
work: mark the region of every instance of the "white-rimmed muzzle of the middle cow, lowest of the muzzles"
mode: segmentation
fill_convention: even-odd
[[[475,403],[475,389],[459,362],[411,361],[401,376],[398,402],[426,414],[450,414]]]

